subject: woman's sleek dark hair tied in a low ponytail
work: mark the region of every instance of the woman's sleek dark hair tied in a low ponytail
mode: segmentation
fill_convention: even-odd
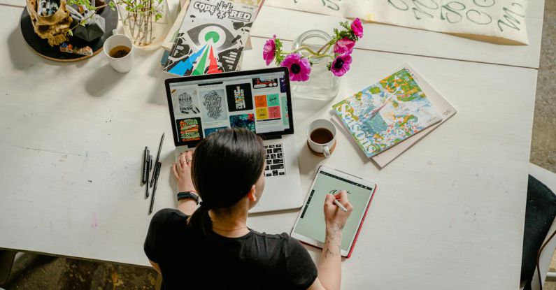
[[[191,177],[201,206],[189,225],[212,231],[208,210],[231,208],[249,193],[264,168],[262,139],[247,129],[224,129],[202,140],[193,154]]]

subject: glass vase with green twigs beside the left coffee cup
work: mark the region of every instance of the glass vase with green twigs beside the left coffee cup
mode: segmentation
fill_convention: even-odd
[[[140,1],[145,7],[148,5],[154,7],[155,12],[148,8],[144,8],[144,11],[131,10],[125,4],[118,5],[117,10],[124,33],[131,38],[135,47],[141,50],[154,50],[162,45],[171,25],[168,2],[166,0]]]

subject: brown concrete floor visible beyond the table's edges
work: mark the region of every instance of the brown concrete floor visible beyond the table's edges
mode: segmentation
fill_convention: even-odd
[[[556,1],[546,0],[541,68],[536,89],[531,161],[556,173]],[[553,259],[556,261],[556,259]],[[556,263],[553,264],[556,270]],[[147,268],[24,254],[3,288],[155,289],[157,273]],[[556,282],[545,289],[556,290]]]

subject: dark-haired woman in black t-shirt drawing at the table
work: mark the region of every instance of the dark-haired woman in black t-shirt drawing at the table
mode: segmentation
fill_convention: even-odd
[[[264,145],[245,129],[211,134],[173,164],[178,210],[150,222],[145,254],[162,274],[164,289],[339,289],[341,230],[348,212],[325,200],[326,241],[318,269],[287,233],[248,229],[248,210],[264,189]],[[202,199],[197,208],[198,196]],[[196,210],[197,208],[197,210]]]

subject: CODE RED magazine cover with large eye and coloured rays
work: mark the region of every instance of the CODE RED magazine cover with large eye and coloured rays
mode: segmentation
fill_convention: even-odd
[[[164,71],[202,75],[236,71],[257,6],[192,0]]]

